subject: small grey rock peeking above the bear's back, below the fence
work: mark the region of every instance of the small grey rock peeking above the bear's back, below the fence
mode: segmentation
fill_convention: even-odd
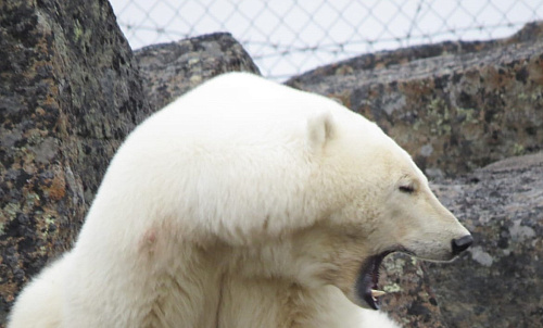
[[[154,45],[135,52],[153,109],[225,72],[251,72],[258,67],[241,45],[227,33],[177,42]]]

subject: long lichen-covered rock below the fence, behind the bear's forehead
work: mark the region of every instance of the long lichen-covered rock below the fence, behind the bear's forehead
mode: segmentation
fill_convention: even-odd
[[[542,30],[362,55],[287,84],[376,121],[431,176],[467,173],[542,149]]]

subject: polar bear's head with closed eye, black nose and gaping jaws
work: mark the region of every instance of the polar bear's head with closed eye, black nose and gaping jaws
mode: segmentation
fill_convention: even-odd
[[[345,111],[321,124],[326,137],[319,138],[318,151],[326,153],[321,171],[329,174],[321,184],[341,186],[330,204],[334,210],[321,222],[327,242],[334,244],[327,279],[355,304],[378,308],[384,256],[403,252],[451,261],[472,237],[440,203],[412,157],[377,125]]]

